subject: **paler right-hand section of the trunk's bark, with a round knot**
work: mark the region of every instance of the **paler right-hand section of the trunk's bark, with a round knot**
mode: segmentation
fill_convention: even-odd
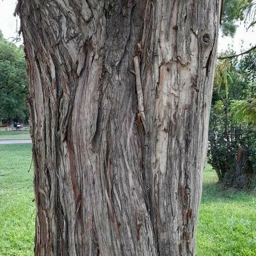
[[[153,171],[160,255],[195,253],[219,15],[219,1],[157,1],[146,9],[142,76],[155,129],[144,158]]]

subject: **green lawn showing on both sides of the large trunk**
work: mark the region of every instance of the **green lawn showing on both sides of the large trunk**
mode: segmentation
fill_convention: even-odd
[[[0,255],[33,255],[31,144],[0,145]],[[197,231],[197,255],[256,255],[255,196],[224,190],[209,165]]]

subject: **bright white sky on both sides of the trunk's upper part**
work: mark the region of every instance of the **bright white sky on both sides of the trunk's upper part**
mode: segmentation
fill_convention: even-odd
[[[17,29],[19,30],[19,17],[14,17],[17,0],[0,0],[0,29],[4,37],[12,40],[12,37],[17,36]],[[226,51],[231,48],[236,53],[247,50],[255,45],[256,32],[253,28],[246,31],[244,24],[239,24],[234,38],[219,36],[218,52]],[[254,28],[256,30],[256,27]],[[243,41],[243,44],[242,44]],[[242,46],[242,47],[241,47]]]

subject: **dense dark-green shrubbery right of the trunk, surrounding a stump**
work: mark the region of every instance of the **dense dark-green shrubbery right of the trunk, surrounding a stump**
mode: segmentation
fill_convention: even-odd
[[[247,185],[256,170],[255,56],[220,61],[217,65],[209,122],[208,161],[219,180],[234,185],[239,146],[249,149]],[[246,185],[246,184],[244,184]]]

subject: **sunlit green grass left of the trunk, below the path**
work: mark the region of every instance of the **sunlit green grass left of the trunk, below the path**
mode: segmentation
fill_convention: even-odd
[[[0,255],[33,255],[31,144],[0,145]]]

